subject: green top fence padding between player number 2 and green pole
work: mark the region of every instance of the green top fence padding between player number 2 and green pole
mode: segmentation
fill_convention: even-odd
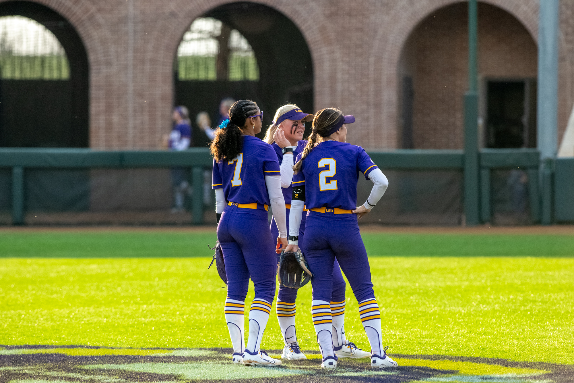
[[[374,163],[383,169],[461,169],[464,159],[461,150],[398,149],[368,154]]]

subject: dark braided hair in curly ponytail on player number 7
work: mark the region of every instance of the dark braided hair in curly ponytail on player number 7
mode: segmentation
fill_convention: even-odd
[[[257,102],[240,99],[229,109],[229,122],[227,127],[218,130],[211,143],[211,154],[215,162],[222,159],[232,160],[243,150],[243,131],[245,121],[254,116],[258,110]]]

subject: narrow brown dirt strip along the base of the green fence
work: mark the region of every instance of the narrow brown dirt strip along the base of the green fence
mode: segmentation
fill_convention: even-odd
[[[8,232],[215,232],[216,225],[201,226],[0,226],[0,234]],[[501,234],[501,235],[574,235],[574,225],[487,226],[475,227],[427,227],[360,225],[361,232],[369,233],[419,233],[419,234]]]

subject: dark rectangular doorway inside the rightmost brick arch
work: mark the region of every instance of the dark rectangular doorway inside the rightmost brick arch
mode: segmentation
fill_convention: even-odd
[[[536,80],[487,82],[487,147],[536,147]]]

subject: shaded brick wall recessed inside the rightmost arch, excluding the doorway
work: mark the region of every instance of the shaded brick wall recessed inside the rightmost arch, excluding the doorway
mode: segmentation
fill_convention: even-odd
[[[481,3],[478,15],[479,77],[536,78],[537,47],[528,30],[498,7]],[[465,3],[447,6],[425,18],[405,44],[401,66],[402,72],[413,78],[415,148],[461,149],[464,146],[467,20]],[[481,98],[484,98],[486,83],[480,83]]]

